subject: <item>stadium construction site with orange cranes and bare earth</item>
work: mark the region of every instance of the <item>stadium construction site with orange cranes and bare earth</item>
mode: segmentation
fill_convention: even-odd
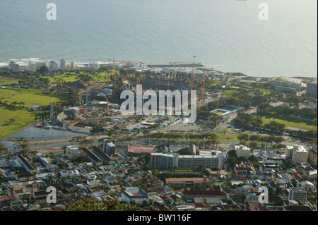
[[[181,67],[183,66],[183,67]],[[107,130],[129,132],[143,128],[165,128],[175,123],[182,116],[129,116],[122,115],[120,93],[131,90],[136,94],[136,85],[146,90],[175,91],[196,90],[197,105],[213,99],[215,93],[206,92],[204,82],[209,75],[201,63],[173,62],[169,65],[142,65],[131,61],[113,61],[108,70],[115,71],[109,82],[81,81],[73,83],[53,84],[69,85],[76,88],[82,103],[77,107],[65,109],[56,121],[59,127],[78,130],[85,133],[105,133]],[[174,99],[175,100],[175,99]],[[135,104],[136,105],[136,104]]]

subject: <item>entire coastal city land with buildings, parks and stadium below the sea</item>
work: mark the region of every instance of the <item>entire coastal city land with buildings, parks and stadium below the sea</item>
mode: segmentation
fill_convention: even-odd
[[[121,114],[136,85],[196,90],[196,121]],[[62,59],[0,86],[0,211],[317,211],[317,78]]]

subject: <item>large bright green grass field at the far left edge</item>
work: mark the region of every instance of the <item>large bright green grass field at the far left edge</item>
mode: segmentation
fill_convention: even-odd
[[[52,101],[52,96],[44,95],[42,90],[38,89],[20,89],[8,88],[0,90],[1,102],[8,101],[7,105],[0,104],[0,138],[4,138],[16,131],[28,126],[35,121],[35,114],[38,112],[29,112],[27,109],[32,105],[49,105]],[[61,99],[54,97],[54,102],[59,102]],[[25,107],[11,107],[8,104],[11,102],[25,102]],[[10,123],[10,119],[14,119]]]

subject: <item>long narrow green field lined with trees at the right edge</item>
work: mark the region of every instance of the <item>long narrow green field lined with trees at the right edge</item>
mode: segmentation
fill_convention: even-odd
[[[264,116],[262,118],[262,121],[264,123],[270,123],[271,121],[276,121],[278,123],[285,124],[285,128],[291,127],[291,128],[297,128],[302,130],[317,130],[317,122],[314,121],[305,121],[300,118],[293,118],[290,116],[277,116],[273,117],[271,120],[271,117]]]

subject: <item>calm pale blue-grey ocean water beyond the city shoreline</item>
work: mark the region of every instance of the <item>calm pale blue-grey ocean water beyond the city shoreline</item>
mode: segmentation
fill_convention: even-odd
[[[317,77],[317,0],[0,0],[0,62],[30,58]]]

